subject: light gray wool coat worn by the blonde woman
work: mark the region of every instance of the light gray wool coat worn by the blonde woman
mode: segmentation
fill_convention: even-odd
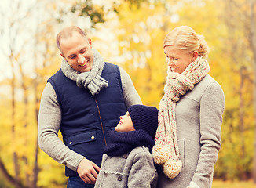
[[[176,105],[177,139],[182,169],[169,179],[159,168],[159,188],[210,188],[221,148],[225,103],[221,86],[209,74]]]

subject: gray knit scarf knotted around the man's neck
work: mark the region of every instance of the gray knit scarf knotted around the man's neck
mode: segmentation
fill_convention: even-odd
[[[68,64],[68,61],[64,59],[61,62],[61,71],[67,78],[76,81],[76,85],[79,88],[84,87],[85,89],[89,89],[94,96],[98,94],[101,89],[108,87],[108,81],[101,77],[104,60],[96,49],[93,49],[93,56],[93,67],[91,71],[76,71]]]

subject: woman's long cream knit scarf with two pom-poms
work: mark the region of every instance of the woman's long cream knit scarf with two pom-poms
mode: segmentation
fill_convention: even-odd
[[[198,57],[190,63],[182,74],[168,69],[164,96],[159,103],[159,125],[155,135],[155,146],[152,156],[155,164],[162,164],[163,172],[174,179],[182,168],[180,153],[177,146],[177,128],[175,107],[181,95],[192,90],[210,71],[207,60]]]

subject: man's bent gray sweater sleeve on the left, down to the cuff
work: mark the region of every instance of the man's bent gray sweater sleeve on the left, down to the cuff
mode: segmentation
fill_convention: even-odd
[[[53,86],[48,82],[42,92],[38,114],[38,144],[49,157],[76,172],[84,157],[70,150],[59,139],[60,121],[61,110],[57,96]]]

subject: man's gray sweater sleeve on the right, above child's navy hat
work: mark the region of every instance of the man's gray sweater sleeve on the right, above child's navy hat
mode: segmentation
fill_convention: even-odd
[[[133,81],[130,79],[129,74],[127,74],[121,67],[120,76],[123,87],[123,99],[126,104],[126,108],[133,104],[142,104],[141,98],[133,85]]]

